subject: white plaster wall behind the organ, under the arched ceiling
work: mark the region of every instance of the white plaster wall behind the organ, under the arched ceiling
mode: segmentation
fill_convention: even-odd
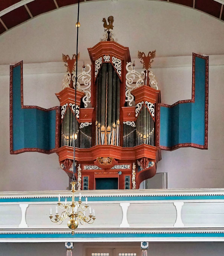
[[[101,17],[114,15],[118,42],[130,47],[132,59],[136,58],[137,50],[157,49],[160,58],[155,59],[153,71],[163,103],[190,99],[192,52],[212,55],[209,67],[209,150],[182,148],[173,152],[162,151],[157,172],[168,172],[168,188],[223,187],[223,22],[163,1],[85,2],[80,11],[81,60],[90,63],[87,47],[99,42],[103,32]],[[8,65],[22,59],[28,63],[24,65],[25,105],[44,108],[58,105],[54,93],[61,90],[66,69],[62,62],[58,64],[57,61],[61,61],[62,52],[70,55],[75,52],[75,17],[76,6],[62,8],[0,36],[1,191],[64,190],[68,186],[68,177],[59,167],[56,154],[9,154]],[[136,61],[136,64],[140,68],[140,63]]]

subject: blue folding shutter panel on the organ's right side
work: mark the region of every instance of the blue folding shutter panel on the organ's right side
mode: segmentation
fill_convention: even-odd
[[[195,56],[195,102],[160,107],[160,146],[204,146],[206,59]]]

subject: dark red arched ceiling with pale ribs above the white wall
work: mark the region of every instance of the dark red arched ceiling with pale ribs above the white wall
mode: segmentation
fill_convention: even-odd
[[[93,0],[80,0],[88,2]],[[119,0],[111,0],[119,1]],[[137,1],[137,0],[136,0]],[[220,21],[224,21],[224,0],[159,0],[197,9]],[[0,34],[35,16],[64,6],[78,3],[78,0],[0,0]]]

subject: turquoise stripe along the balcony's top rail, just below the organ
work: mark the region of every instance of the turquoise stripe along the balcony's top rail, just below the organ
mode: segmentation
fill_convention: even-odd
[[[64,201],[65,198],[61,198]],[[72,200],[67,197],[67,200]],[[137,197],[88,197],[89,202],[96,201],[175,201],[175,200],[224,200],[224,195],[200,195],[200,196],[137,196]],[[0,198],[0,203],[20,203],[20,202],[57,202],[58,198]],[[85,197],[82,197],[85,201]]]

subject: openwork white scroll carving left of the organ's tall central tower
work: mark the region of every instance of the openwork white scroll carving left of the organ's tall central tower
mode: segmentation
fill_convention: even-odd
[[[72,81],[75,83],[75,74],[72,76]],[[91,98],[91,66],[89,64],[84,65],[82,72],[78,75],[77,90],[85,93],[82,102],[84,107],[87,108]]]

